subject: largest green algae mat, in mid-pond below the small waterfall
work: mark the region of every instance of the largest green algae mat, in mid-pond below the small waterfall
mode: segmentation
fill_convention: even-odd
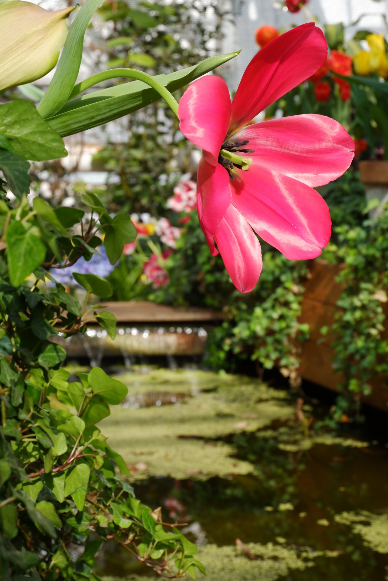
[[[232,446],[206,440],[255,432],[294,415],[285,391],[245,376],[156,370],[116,378],[126,383],[128,396],[123,406],[111,408],[101,428],[113,449],[132,467],[133,481],[150,476],[204,480],[254,472],[253,464],[232,456]],[[148,392],[191,397],[175,405],[156,401],[149,407],[130,406],[131,396]]]

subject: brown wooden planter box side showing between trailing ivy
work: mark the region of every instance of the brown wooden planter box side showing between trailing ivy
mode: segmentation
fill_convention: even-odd
[[[335,281],[342,266],[327,264],[324,260],[313,260],[310,263],[311,278],[306,282],[306,292],[303,295],[302,312],[300,322],[310,325],[310,339],[301,345],[301,364],[299,372],[303,379],[323,385],[325,388],[339,392],[339,384],[344,381],[341,374],[336,373],[332,367],[334,355],[332,347],[333,337],[326,335],[324,343],[318,343],[322,339],[320,329],[327,325],[329,329],[334,322],[336,302],[342,293],[342,285]],[[384,306],[387,314],[388,307]],[[383,338],[388,337],[388,332]],[[373,392],[370,396],[362,396],[362,401],[371,406],[388,411],[388,389],[385,377],[372,382]]]

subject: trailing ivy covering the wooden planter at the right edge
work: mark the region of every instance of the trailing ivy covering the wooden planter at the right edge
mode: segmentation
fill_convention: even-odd
[[[335,229],[337,246],[328,255],[344,263],[338,277],[344,290],[337,301],[339,311],[332,332],[335,335],[333,365],[345,381],[345,396],[339,399],[335,419],[349,403],[359,408],[359,394],[371,393],[373,378],[388,376],[388,340],[385,332],[388,289],[388,211],[375,222],[365,220],[352,227]]]

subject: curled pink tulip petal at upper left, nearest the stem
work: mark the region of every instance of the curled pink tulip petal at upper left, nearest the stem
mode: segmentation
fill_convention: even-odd
[[[203,149],[215,166],[231,118],[231,98],[224,79],[214,75],[192,83],[179,101],[179,127],[186,138]]]

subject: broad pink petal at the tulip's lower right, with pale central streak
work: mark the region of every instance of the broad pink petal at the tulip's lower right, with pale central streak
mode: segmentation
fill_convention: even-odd
[[[306,184],[253,163],[231,185],[232,204],[289,260],[315,258],[328,244],[329,208]]]

